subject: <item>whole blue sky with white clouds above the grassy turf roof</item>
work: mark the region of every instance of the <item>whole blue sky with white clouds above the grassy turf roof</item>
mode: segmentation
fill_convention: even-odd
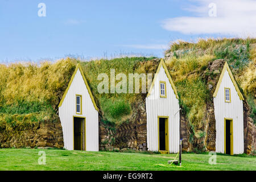
[[[39,3],[46,16],[39,17]],[[209,15],[210,3],[217,16]],[[162,57],[177,39],[255,37],[255,1],[1,0],[0,62]]]

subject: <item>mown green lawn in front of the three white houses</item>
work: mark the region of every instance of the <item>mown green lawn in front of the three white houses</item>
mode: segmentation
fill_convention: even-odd
[[[39,151],[46,152],[46,164],[39,165]],[[169,165],[176,154],[86,152],[40,149],[0,149],[0,170],[256,170],[252,156],[217,155],[210,165],[207,154],[183,154],[182,167]]]

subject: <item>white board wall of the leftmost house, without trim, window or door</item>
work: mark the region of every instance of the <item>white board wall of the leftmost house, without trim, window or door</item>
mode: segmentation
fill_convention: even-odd
[[[82,115],[76,114],[76,94],[82,95]],[[77,70],[63,104],[59,107],[64,148],[67,150],[73,150],[73,116],[86,119],[86,151],[98,151],[98,111],[93,106],[80,69]]]

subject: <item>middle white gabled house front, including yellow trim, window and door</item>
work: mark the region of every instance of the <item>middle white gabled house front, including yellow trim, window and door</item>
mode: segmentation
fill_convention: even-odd
[[[162,153],[179,151],[179,96],[166,64],[160,60],[146,97],[147,148]]]

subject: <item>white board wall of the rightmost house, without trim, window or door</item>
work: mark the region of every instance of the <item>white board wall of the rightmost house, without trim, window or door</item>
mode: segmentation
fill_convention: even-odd
[[[225,102],[224,88],[230,88],[231,102]],[[236,88],[225,71],[218,89],[213,98],[214,114],[216,119],[216,152],[224,153],[224,118],[233,119],[233,152],[243,153],[243,102],[237,94]]]

